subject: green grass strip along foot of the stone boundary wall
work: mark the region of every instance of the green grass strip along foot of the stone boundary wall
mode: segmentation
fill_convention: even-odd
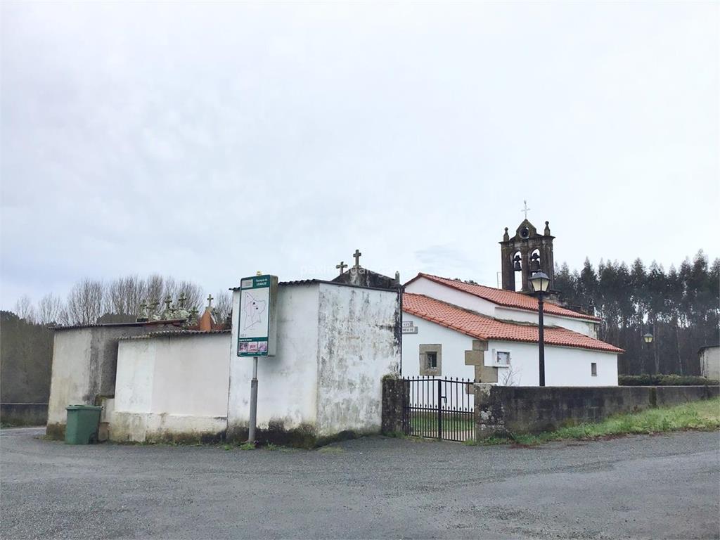
[[[582,423],[577,426],[546,431],[537,435],[516,435],[508,438],[490,437],[483,444],[514,442],[534,446],[549,441],[566,439],[595,439],[629,434],[666,433],[668,431],[714,431],[720,429],[720,397],[693,401],[674,407],[662,407],[611,416],[598,423]]]

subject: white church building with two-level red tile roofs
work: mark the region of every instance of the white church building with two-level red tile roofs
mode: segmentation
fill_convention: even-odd
[[[402,296],[403,377],[539,384],[538,300],[418,274]],[[544,302],[547,386],[616,386],[621,348],[598,340],[600,321]]]

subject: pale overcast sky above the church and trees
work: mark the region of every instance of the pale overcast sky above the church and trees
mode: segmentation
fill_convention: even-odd
[[[1,307],[719,256],[719,4],[1,4]]]

